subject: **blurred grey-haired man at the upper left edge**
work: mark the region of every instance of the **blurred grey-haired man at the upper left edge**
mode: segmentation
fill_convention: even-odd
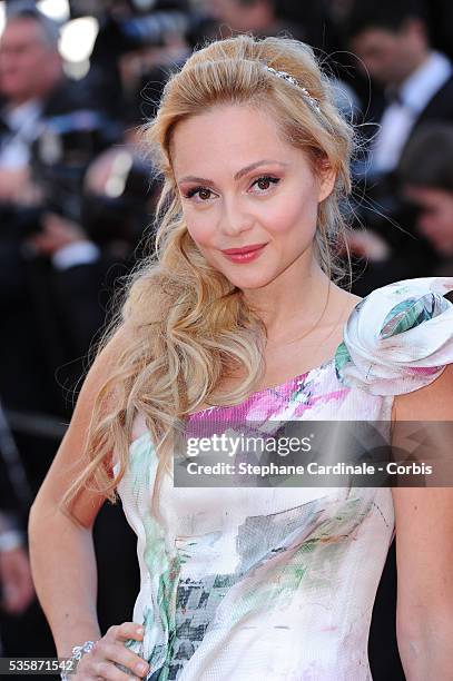
[[[88,103],[63,72],[58,26],[38,10],[8,10],[0,37],[0,200],[23,199],[39,121]]]

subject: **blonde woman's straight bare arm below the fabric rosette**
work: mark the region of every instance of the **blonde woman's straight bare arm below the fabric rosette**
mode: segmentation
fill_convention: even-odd
[[[453,421],[453,365],[395,398],[395,420]],[[433,425],[433,427],[435,427]],[[453,471],[452,443],[444,442]],[[451,473],[450,473],[451,478]],[[453,670],[453,488],[395,487],[398,650],[407,681],[450,681]]]

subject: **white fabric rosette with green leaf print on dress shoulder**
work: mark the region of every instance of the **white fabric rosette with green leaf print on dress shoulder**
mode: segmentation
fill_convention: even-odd
[[[374,395],[410,393],[453,362],[453,277],[395,282],[353,309],[335,355],[338,381]]]

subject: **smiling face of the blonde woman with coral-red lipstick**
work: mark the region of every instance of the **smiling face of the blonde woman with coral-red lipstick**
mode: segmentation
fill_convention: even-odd
[[[187,228],[208,263],[239,288],[259,288],[313,258],[319,179],[307,156],[282,141],[268,115],[221,106],[179,122],[171,159]],[[263,245],[252,256],[225,249]]]

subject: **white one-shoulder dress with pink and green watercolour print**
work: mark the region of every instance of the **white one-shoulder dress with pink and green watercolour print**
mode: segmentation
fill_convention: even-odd
[[[218,416],[391,422],[394,396],[453,362],[453,277],[375,289],[352,310],[335,356]],[[115,461],[115,455],[114,455]],[[118,470],[115,461],[114,473]],[[391,487],[178,487],[138,415],[117,488],[137,534],[132,619],[147,680],[370,681],[367,641],[394,536]]]

